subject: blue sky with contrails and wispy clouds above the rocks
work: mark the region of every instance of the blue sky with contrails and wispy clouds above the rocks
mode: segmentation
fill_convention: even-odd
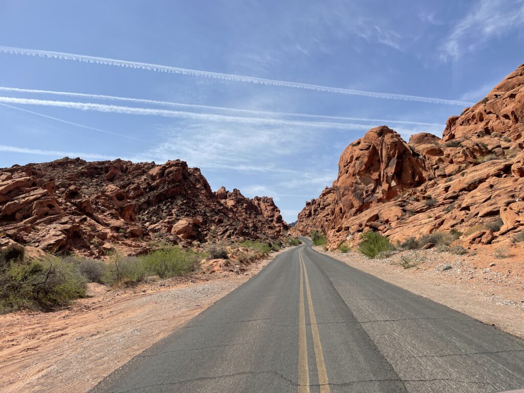
[[[199,167],[288,222],[369,128],[442,135],[522,63],[524,0],[0,1],[0,167]]]

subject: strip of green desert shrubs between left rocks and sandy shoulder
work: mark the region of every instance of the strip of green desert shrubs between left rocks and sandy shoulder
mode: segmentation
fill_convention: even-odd
[[[301,244],[295,237],[285,242],[244,241],[229,246],[209,244],[182,248],[160,244],[159,248],[140,256],[111,252],[105,260],[80,256],[47,254],[28,258],[24,247],[14,244],[0,252],[0,313],[19,309],[49,311],[85,297],[89,282],[128,287],[152,279],[167,279],[196,272],[203,259],[228,259],[234,264],[252,263],[283,246]]]

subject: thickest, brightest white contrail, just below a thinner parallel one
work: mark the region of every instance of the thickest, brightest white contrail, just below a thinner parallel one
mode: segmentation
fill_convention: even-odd
[[[122,113],[122,114],[129,114],[129,115],[164,116],[164,117],[174,117],[174,118],[183,118],[183,119],[199,119],[199,120],[205,119],[205,120],[212,120],[212,121],[219,121],[219,122],[227,121],[227,122],[234,122],[234,123],[248,123],[248,124],[257,124],[257,125],[281,124],[281,125],[290,125],[290,126],[318,127],[318,128],[363,129],[363,130],[369,129],[369,125],[365,125],[365,124],[300,122],[300,121],[268,119],[268,118],[260,118],[260,117],[239,117],[239,116],[214,115],[214,114],[207,114],[207,113],[171,111],[171,110],[154,109],[154,108],[137,108],[137,107],[131,107],[131,106],[118,106],[118,105],[93,104],[93,103],[68,102],[68,101],[20,99],[20,98],[15,98],[15,97],[0,97],[0,103],[56,106],[56,107],[62,107],[62,108],[79,109],[82,111]]]

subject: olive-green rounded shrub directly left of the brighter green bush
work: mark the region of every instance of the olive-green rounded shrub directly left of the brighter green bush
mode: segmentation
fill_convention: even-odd
[[[111,286],[136,285],[144,280],[147,267],[137,257],[123,257],[113,254],[111,262],[105,265],[102,280]]]

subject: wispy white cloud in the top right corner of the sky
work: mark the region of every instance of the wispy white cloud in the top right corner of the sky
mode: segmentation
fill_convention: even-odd
[[[493,37],[524,26],[523,0],[479,0],[453,27],[441,47],[441,59],[458,59]]]

